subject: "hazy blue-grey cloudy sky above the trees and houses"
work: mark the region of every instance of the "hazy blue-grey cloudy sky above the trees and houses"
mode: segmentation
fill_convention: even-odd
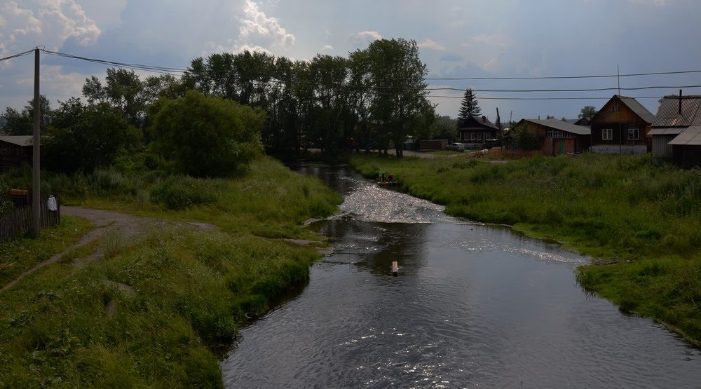
[[[375,39],[418,43],[431,101],[456,117],[462,90],[621,90],[653,114],[662,95],[701,86],[698,0],[0,0],[0,57],[44,46],[83,57],[184,68],[213,53],[265,50],[294,60],[318,53],[347,57]],[[0,62],[0,111],[20,109],[34,91],[34,56]],[[41,93],[53,108],[80,96],[106,67],[43,55]],[[599,76],[597,79],[435,80]],[[144,76],[149,75],[143,73]],[[701,95],[701,88],[683,88]],[[492,121],[576,118],[618,90],[476,92]],[[444,97],[437,97],[444,96]],[[569,97],[576,100],[504,100]],[[583,100],[582,97],[596,99]],[[650,97],[650,98],[640,98]]]

